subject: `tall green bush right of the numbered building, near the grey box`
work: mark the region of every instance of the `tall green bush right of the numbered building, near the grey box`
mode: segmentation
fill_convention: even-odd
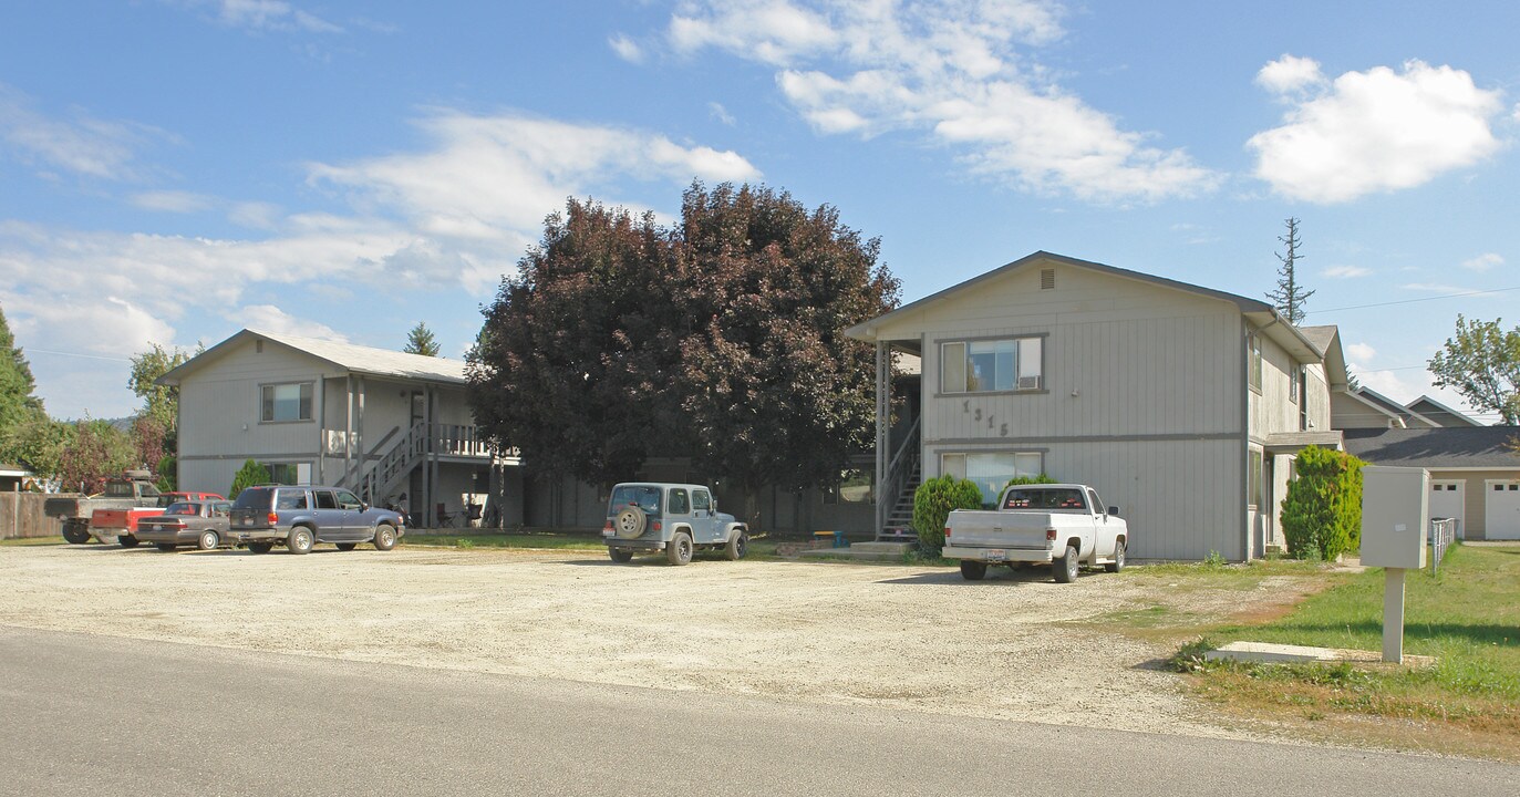
[[[1307,446],[1294,465],[1298,478],[1283,500],[1287,555],[1335,561],[1362,548],[1362,465],[1332,449]]]

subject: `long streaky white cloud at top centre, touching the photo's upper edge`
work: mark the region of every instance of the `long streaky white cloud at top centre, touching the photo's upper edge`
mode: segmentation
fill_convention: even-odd
[[[1044,0],[786,0],[684,3],[667,41],[777,67],[777,85],[821,134],[917,131],[964,154],[979,175],[1094,201],[1211,190],[1219,175],[1181,149],[1066,93],[1028,47],[1062,37]]]

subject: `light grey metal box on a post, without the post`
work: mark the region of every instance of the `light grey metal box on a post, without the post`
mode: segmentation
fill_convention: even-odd
[[[1426,557],[1430,475],[1423,467],[1362,468],[1362,564],[1418,570]]]

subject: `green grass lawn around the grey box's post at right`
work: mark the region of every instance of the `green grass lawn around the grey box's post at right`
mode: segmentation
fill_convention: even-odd
[[[1283,618],[1224,625],[1184,648],[1201,697],[1240,716],[1321,726],[1327,739],[1520,760],[1520,548],[1456,546],[1404,578],[1404,654],[1432,666],[1199,662],[1233,640],[1382,649],[1383,570],[1306,598]]]

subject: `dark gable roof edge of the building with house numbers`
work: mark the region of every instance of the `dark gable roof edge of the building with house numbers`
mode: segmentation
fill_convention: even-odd
[[[1204,287],[1204,286],[1198,286],[1198,284],[1192,284],[1192,283],[1184,283],[1184,281],[1178,281],[1178,280],[1169,280],[1166,277],[1157,277],[1155,274],[1145,274],[1145,272],[1140,272],[1140,271],[1122,269],[1122,268],[1110,266],[1110,265],[1105,265],[1105,263],[1094,263],[1091,260],[1078,260],[1076,257],[1067,257],[1064,254],[1047,252],[1047,251],[1043,251],[1043,249],[1037,251],[1034,254],[1028,254],[1024,257],[1020,257],[1018,260],[1014,260],[1012,263],[1002,265],[1002,266],[999,266],[999,268],[996,268],[993,271],[988,271],[985,274],[979,274],[976,277],[971,277],[970,280],[965,280],[964,283],[945,287],[944,291],[939,291],[938,294],[927,295],[927,297],[924,297],[924,298],[921,298],[918,301],[910,301],[910,303],[907,303],[907,304],[904,304],[904,306],[901,306],[901,307],[898,307],[898,309],[895,309],[892,312],[879,315],[879,316],[876,316],[876,318],[872,318],[869,321],[863,321],[860,324],[856,324],[856,325],[853,325],[853,327],[850,327],[850,329],[845,330],[845,336],[854,338],[857,341],[876,342],[876,339],[877,339],[876,338],[877,329],[882,327],[882,325],[885,325],[885,324],[888,324],[888,322],[891,322],[891,321],[894,321],[894,319],[897,319],[897,318],[901,318],[901,316],[909,315],[909,313],[917,312],[917,310],[923,310],[924,307],[936,304],[936,303],[939,303],[942,300],[947,300],[950,297],[961,295],[964,292],[973,291],[973,289],[976,289],[979,286],[983,286],[988,281],[999,280],[999,278],[1002,278],[1002,277],[1005,277],[1005,275],[1008,275],[1008,274],[1011,274],[1014,271],[1018,271],[1021,268],[1026,268],[1026,266],[1029,266],[1032,263],[1040,263],[1040,262],[1058,263],[1058,265],[1062,265],[1062,266],[1082,268],[1082,269],[1096,271],[1096,272],[1100,272],[1100,274],[1108,274],[1111,277],[1120,277],[1120,278],[1125,278],[1125,280],[1134,280],[1134,281],[1140,281],[1140,283],[1146,283],[1146,284],[1167,287],[1167,289],[1172,289],[1172,291],[1183,291],[1183,292],[1199,295],[1199,297],[1208,297],[1208,298],[1216,298],[1216,300],[1228,301],[1228,303],[1234,304],[1236,307],[1239,307],[1242,315],[1245,315],[1246,318],[1249,318],[1251,321],[1254,321],[1257,324],[1257,327],[1263,332],[1263,335],[1266,335],[1268,338],[1277,341],[1278,345],[1281,345],[1290,354],[1294,354],[1295,357],[1298,357],[1300,362],[1319,362],[1322,359],[1322,353],[1318,348],[1315,348],[1315,345],[1312,342],[1309,342],[1307,338],[1304,338],[1304,335],[1298,330],[1298,327],[1289,324],[1287,319],[1281,313],[1278,313],[1275,307],[1272,307],[1271,304],[1268,304],[1268,303],[1265,303],[1262,300],[1246,298],[1246,297],[1240,297],[1240,295],[1236,295],[1236,294],[1227,294],[1224,291],[1214,291],[1213,287]]]

